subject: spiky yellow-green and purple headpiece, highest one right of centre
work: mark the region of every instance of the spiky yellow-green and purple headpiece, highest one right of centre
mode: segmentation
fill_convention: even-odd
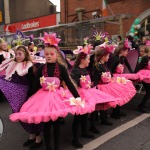
[[[105,41],[108,41],[108,33],[107,32],[100,32],[98,33],[97,31],[94,31],[94,35],[95,37],[95,40],[98,41],[98,40],[105,40]]]

